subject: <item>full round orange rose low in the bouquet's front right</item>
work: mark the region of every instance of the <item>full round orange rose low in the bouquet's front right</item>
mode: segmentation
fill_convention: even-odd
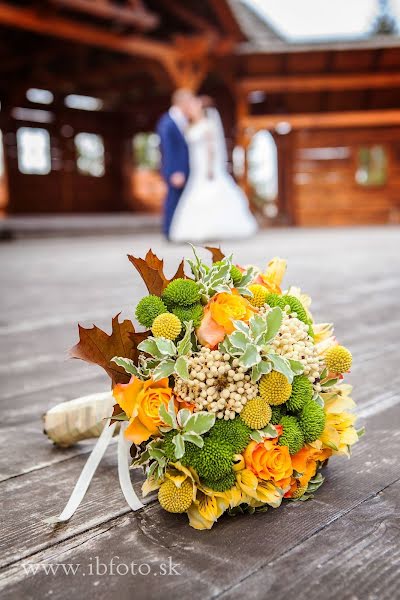
[[[273,481],[281,489],[290,485],[293,468],[289,449],[279,446],[276,439],[250,442],[243,456],[246,467],[259,479]]]

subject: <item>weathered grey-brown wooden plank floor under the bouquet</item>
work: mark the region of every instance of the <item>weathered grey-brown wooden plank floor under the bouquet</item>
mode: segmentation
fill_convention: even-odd
[[[188,252],[157,236],[0,245],[1,597],[399,598],[397,228],[274,230],[225,244],[242,264],[288,258],[286,283],[313,295],[317,319],[335,321],[355,356],[350,379],[367,435],[351,461],[330,461],[314,501],[226,517],[198,532],[154,502],[129,512],[112,445],[70,523],[56,529],[43,523],[63,508],[92,444],[57,450],[42,434],[41,415],[108,384],[96,367],[66,360],[76,323],[108,328],[121,309],[132,316],[143,288],[125,254],[143,255],[149,245],[171,272]],[[140,475],[132,478],[139,490]],[[121,574],[115,566],[110,573],[113,557]],[[75,575],[63,567],[32,574],[29,565],[40,564],[80,566]],[[175,571],[168,573],[169,564]],[[124,565],[137,574],[124,575]],[[160,574],[161,565],[168,575]]]

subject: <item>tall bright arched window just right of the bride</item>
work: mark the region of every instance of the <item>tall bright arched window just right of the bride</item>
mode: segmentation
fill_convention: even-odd
[[[262,206],[264,214],[278,214],[278,157],[274,138],[268,131],[256,133],[247,153],[248,179],[253,201]]]

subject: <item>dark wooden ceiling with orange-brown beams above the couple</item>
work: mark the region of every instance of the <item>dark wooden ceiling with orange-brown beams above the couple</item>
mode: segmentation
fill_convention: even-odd
[[[102,98],[105,110],[121,110],[204,80],[211,93],[219,85],[243,102],[250,98],[254,116],[400,106],[396,40],[392,47],[387,38],[381,47],[367,40],[346,49],[249,52],[232,1],[0,1],[3,106],[15,106],[28,87],[43,87],[56,101],[89,94]]]

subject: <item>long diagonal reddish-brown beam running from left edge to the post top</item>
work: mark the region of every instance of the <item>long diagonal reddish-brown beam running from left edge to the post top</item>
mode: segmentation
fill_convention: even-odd
[[[55,15],[45,16],[35,10],[17,8],[7,2],[0,2],[0,24],[131,56],[145,56],[166,65],[168,61],[177,57],[176,51],[162,42],[151,41],[141,36],[115,35],[72,19]]]

